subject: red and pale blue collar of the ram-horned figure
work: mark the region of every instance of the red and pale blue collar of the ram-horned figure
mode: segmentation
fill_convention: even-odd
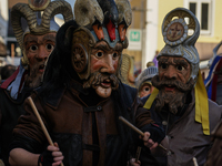
[[[17,71],[1,84],[1,89],[8,90],[10,96],[13,100],[17,100],[19,94],[23,90],[26,74],[27,71],[20,61],[20,65]]]

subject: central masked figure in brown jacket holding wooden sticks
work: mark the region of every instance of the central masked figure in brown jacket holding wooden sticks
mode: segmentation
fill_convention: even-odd
[[[143,142],[148,147],[164,137],[162,129],[151,124],[137,90],[118,77],[122,50],[128,46],[129,1],[77,0],[74,12],[75,21],[65,23],[57,34],[42,87],[31,96],[59,148],[48,146],[27,101],[28,114],[13,131],[12,165],[127,165],[133,157],[130,145],[134,134],[119,116],[145,133]]]

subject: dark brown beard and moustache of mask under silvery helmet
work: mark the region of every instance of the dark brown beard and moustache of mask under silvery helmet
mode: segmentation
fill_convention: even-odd
[[[157,96],[155,112],[161,112],[167,107],[172,114],[176,114],[179,108],[182,108],[186,101],[188,93],[193,89],[195,82],[191,77],[188,83],[182,83],[176,80],[162,80],[159,81],[159,75],[153,76],[152,84],[159,89]],[[175,93],[165,92],[164,86],[171,85],[175,87]]]

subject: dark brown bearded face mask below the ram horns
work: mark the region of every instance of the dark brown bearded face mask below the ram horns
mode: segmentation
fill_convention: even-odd
[[[26,86],[37,87],[40,85],[47,59],[56,45],[56,32],[42,35],[29,33],[24,37],[24,50],[29,60]]]

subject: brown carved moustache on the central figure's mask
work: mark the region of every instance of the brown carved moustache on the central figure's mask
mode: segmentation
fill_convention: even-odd
[[[101,83],[105,82],[105,80],[110,80],[112,90],[117,90],[119,87],[119,80],[115,74],[94,72],[91,73],[89,80],[83,83],[83,89],[98,89],[98,86],[101,86]]]

